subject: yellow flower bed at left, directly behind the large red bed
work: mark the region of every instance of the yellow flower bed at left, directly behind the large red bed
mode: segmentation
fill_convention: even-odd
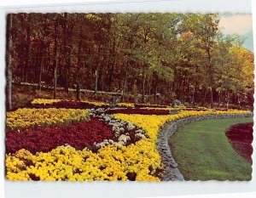
[[[6,126],[8,129],[15,130],[28,127],[48,127],[59,124],[71,124],[88,119],[88,110],[24,108],[7,112]]]

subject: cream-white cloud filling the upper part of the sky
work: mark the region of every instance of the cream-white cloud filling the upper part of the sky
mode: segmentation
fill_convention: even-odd
[[[252,14],[234,14],[222,16],[219,20],[220,27],[223,27],[224,34],[244,35],[253,31]]]

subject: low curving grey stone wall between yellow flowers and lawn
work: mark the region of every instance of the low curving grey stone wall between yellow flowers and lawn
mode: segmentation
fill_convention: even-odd
[[[173,122],[168,122],[160,129],[157,137],[157,150],[160,153],[161,161],[164,164],[164,172],[161,175],[162,181],[183,181],[183,175],[177,168],[177,163],[172,156],[172,149],[168,142],[172,134],[177,131],[178,127],[182,127],[191,122],[197,122],[208,119],[227,119],[227,118],[242,118],[250,117],[252,114],[223,114],[223,115],[203,115],[203,116],[189,116],[178,119]]]

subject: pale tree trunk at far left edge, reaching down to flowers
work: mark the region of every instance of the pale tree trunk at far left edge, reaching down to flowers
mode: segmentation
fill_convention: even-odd
[[[12,110],[12,25],[13,15],[7,15],[7,110]]]

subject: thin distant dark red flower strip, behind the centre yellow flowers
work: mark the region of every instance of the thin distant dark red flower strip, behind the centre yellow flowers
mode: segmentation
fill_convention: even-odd
[[[111,109],[106,110],[107,114],[142,114],[142,115],[169,115],[169,110],[147,110],[147,109]]]

